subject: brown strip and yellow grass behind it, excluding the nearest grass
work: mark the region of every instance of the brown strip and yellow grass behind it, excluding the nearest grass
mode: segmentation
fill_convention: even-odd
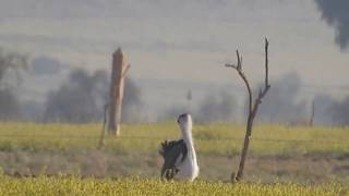
[[[72,174],[158,177],[159,143],[179,137],[174,123],[130,124],[96,146],[100,124],[0,123],[0,167],[8,175]],[[228,181],[237,169],[243,125],[194,126],[202,180]],[[245,168],[249,182],[349,182],[349,127],[256,125]]]

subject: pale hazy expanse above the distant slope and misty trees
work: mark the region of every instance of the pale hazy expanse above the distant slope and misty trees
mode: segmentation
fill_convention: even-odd
[[[265,36],[272,81],[296,71],[306,86],[348,91],[349,51],[313,0],[0,0],[2,48],[107,70],[122,47],[140,81],[241,86],[224,68],[237,48],[263,81]]]

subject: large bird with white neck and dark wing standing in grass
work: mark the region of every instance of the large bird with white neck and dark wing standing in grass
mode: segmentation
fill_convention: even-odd
[[[193,121],[183,113],[177,120],[182,138],[161,143],[159,154],[164,158],[161,177],[194,181],[198,175],[196,152],[192,137]]]

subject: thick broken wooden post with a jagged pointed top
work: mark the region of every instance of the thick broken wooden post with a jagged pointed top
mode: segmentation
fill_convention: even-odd
[[[112,54],[112,71],[110,81],[108,133],[120,134],[121,109],[123,97],[123,81],[130,65],[127,65],[125,54],[119,48]]]

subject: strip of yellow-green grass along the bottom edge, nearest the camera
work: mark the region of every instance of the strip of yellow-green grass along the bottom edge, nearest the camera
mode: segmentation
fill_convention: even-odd
[[[96,180],[79,177],[14,179],[0,176],[0,195],[347,195],[340,184],[299,185],[196,181],[165,182],[127,177]]]

